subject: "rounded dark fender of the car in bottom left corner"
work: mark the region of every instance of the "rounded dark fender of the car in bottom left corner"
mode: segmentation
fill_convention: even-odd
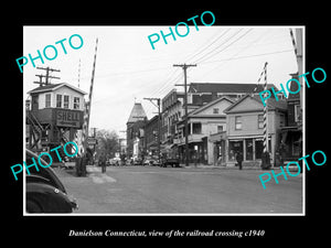
[[[42,182],[26,183],[26,201],[39,205],[41,213],[72,213],[67,195],[58,188]]]

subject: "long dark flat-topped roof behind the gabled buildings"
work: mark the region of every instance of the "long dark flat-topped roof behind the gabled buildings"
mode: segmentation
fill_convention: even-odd
[[[274,84],[267,84],[267,88],[274,87]],[[264,90],[264,85],[242,84],[242,83],[191,83],[189,93],[253,93]]]

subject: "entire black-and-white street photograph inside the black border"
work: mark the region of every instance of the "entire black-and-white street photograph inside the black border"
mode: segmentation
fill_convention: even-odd
[[[305,143],[305,29],[209,17],[24,26],[25,160],[42,166],[25,175],[28,214],[305,212],[305,173],[286,168]]]

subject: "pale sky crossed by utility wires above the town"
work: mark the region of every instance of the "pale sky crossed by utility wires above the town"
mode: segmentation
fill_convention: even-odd
[[[35,66],[60,69],[51,83],[68,83],[86,93],[89,91],[96,39],[98,39],[92,112],[89,127],[97,129],[126,130],[134,104],[141,103],[148,118],[157,108],[145,97],[164,97],[171,89],[183,91],[184,82],[181,67],[173,64],[196,64],[188,68],[189,83],[250,83],[256,84],[266,62],[268,84],[286,84],[289,74],[298,71],[291,26],[204,26],[190,25],[186,36],[167,36],[166,44],[160,37],[154,50],[148,36],[160,31],[169,33],[169,26],[24,26],[23,55],[38,56],[47,45],[54,45],[57,57],[53,61],[35,60]],[[172,30],[174,28],[172,26]],[[179,33],[186,29],[180,26]],[[174,32],[174,31],[173,31]],[[79,34],[83,46],[74,50],[68,44],[73,34]],[[64,54],[63,42],[67,54]],[[79,44],[73,39],[73,45]],[[52,56],[52,50],[47,48]],[[81,66],[79,66],[81,65]],[[19,69],[19,67],[18,67]],[[29,90],[38,87],[36,69],[31,62],[23,67],[24,99]],[[88,94],[86,95],[86,99]]]

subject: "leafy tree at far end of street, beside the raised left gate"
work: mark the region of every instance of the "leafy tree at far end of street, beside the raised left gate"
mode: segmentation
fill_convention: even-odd
[[[96,139],[98,141],[97,157],[104,152],[107,158],[114,158],[115,153],[119,151],[118,134],[115,131],[99,129],[96,132]]]

